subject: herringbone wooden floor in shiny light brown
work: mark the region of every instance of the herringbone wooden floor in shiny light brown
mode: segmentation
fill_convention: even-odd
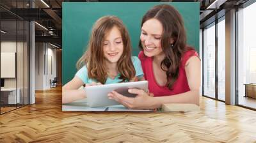
[[[62,112],[61,88],[0,116],[0,142],[256,142],[256,112],[200,98],[200,112]]]

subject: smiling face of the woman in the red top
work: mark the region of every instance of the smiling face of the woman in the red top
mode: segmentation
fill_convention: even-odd
[[[149,19],[141,27],[140,40],[144,54],[148,57],[163,53],[161,47],[161,36],[163,26],[157,19]]]

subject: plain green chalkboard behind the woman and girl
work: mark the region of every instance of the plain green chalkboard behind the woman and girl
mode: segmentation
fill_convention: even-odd
[[[62,82],[71,80],[77,72],[76,62],[86,50],[94,22],[104,15],[116,15],[123,20],[132,41],[132,54],[138,56],[140,23],[143,15],[152,6],[170,4],[182,15],[186,27],[188,44],[199,52],[199,3],[170,2],[95,2],[62,4]]]

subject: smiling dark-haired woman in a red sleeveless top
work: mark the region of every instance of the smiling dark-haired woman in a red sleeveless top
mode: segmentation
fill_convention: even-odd
[[[199,105],[200,59],[186,45],[184,22],[175,8],[161,4],[147,11],[141,22],[140,49],[150,93],[129,89],[138,96],[127,98],[113,91],[110,99],[129,109],[156,109],[163,103]]]

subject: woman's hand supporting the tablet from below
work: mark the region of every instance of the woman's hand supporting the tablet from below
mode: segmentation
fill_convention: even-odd
[[[156,109],[157,107],[160,107],[152,93],[147,93],[142,89],[135,88],[129,89],[128,92],[137,94],[137,96],[135,98],[129,98],[117,93],[116,91],[112,91],[108,94],[108,97],[109,99],[122,103],[122,105],[128,109]]]

